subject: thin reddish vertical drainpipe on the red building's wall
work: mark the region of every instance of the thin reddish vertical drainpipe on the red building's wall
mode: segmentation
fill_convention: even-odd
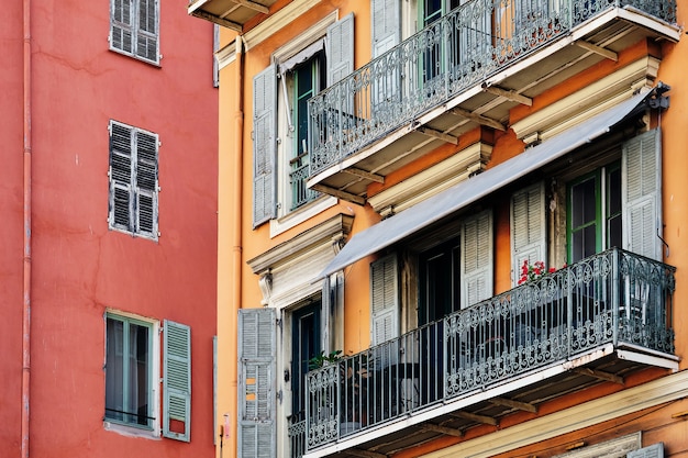
[[[29,388],[31,376],[31,0],[23,0],[23,35],[24,256],[22,280],[21,457],[29,458]]]

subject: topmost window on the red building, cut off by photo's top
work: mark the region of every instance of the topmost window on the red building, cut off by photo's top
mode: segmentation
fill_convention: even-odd
[[[111,0],[110,49],[159,63],[158,0]]]

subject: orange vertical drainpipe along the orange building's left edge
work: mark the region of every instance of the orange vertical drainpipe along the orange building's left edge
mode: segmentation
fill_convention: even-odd
[[[244,168],[244,46],[243,46],[244,37],[242,35],[237,35],[235,38],[236,44],[236,65],[234,66],[234,80],[236,85],[234,86],[234,144],[233,148],[231,148],[230,154],[233,157],[230,158],[232,161],[232,283],[234,287],[232,294],[232,306],[236,306],[240,309],[242,306],[242,252],[243,252],[243,239],[242,239],[242,231],[243,231],[243,168]],[[230,329],[237,328],[237,313],[230,314]],[[236,346],[232,345],[230,361],[237,360]],[[238,373],[236,371],[236,362],[234,362],[234,377],[232,377],[233,381],[237,381]],[[236,393],[236,383],[232,383],[234,388],[234,393]],[[238,400],[236,400],[233,404],[234,412],[237,412]],[[238,426],[238,421],[237,421]],[[238,431],[236,429],[236,433]],[[233,434],[231,437],[231,450],[236,450],[236,434]]]

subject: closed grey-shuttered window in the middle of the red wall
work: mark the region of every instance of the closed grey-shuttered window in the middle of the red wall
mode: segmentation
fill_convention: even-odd
[[[158,137],[110,122],[111,230],[157,239]]]

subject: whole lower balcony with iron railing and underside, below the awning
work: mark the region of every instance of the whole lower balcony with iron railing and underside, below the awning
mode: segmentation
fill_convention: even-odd
[[[644,368],[677,369],[674,272],[613,248],[312,370],[292,456],[391,454]]]

